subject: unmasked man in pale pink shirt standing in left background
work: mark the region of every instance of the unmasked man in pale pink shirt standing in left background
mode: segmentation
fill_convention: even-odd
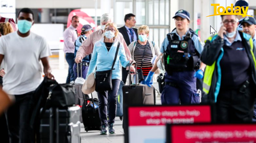
[[[71,19],[71,25],[64,31],[64,48],[63,51],[66,53],[66,60],[69,64],[69,74],[66,80],[66,83],[70,83],[71,81],[75,80],[75,74],[73,71],[73,66],[75,64],[75,41],[78,38],[78,33],[76,28],[79,25],[79,17],[73,16]]]

